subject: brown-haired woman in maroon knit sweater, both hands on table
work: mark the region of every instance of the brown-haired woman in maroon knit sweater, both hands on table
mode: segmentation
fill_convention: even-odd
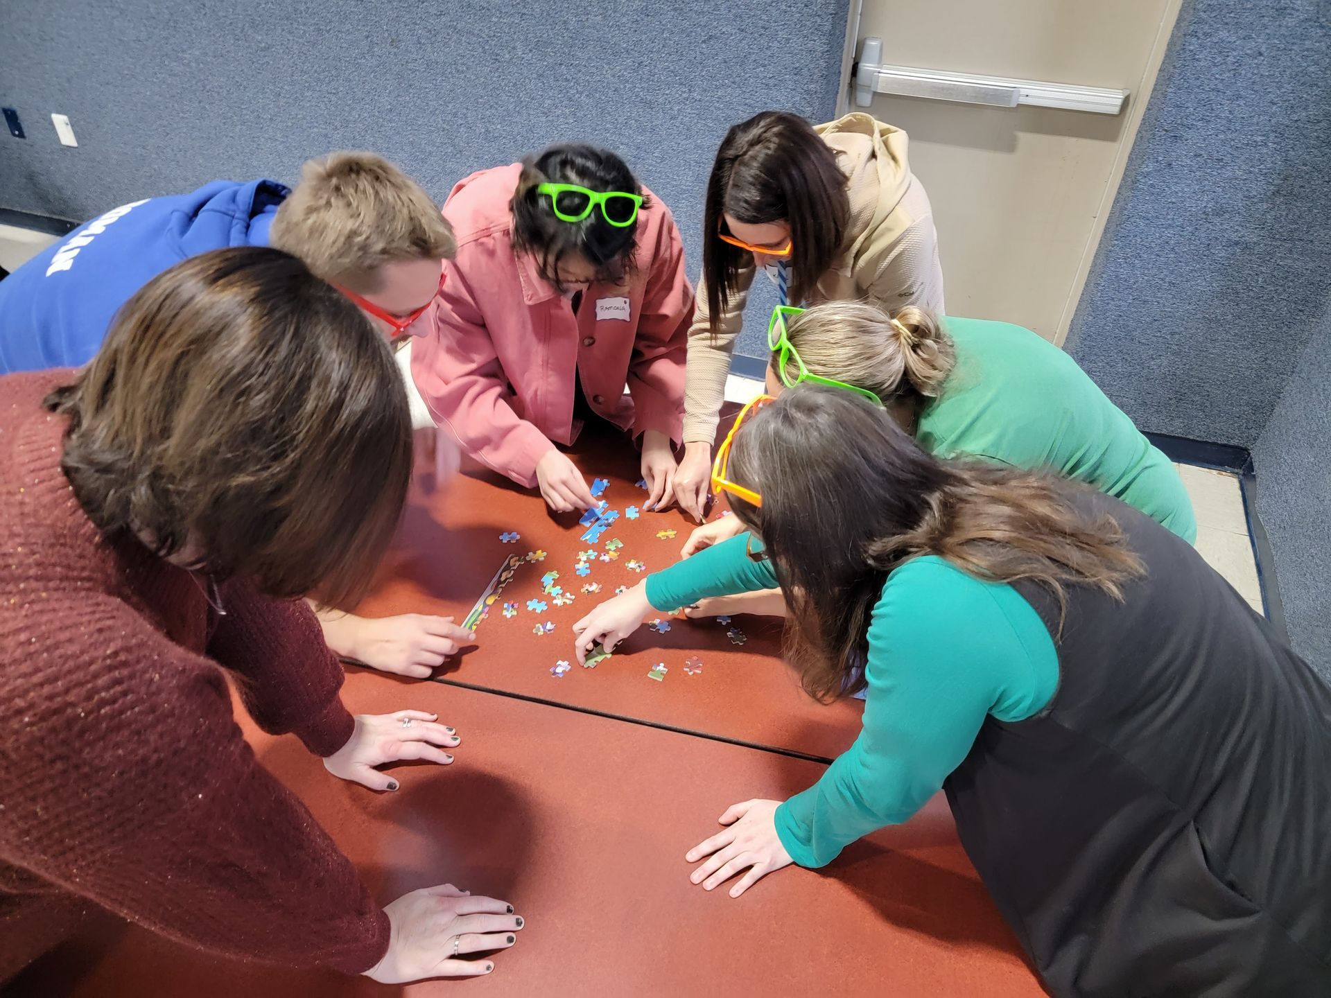
[[[0,981],[101,906],[178,942],[378,981],[483,974],[522,919],[445,885],[374,904],[254,758],[447,764],[433,715],[353,717],[299,596],[354,597],[410,476],[401,375],[280,250],[149,281],[93,361],[0,379]]]

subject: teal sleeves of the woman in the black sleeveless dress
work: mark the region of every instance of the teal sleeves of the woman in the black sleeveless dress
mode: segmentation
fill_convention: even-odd
[[[647,578],[659,611],[707,596],[769,589],[741,534]],[[813,786],[776,809],[781,845],[823,866],[847,845],[905,821],[966,757],[985,717],[1021,721],[1058,687],[1058,655],[1040,615],[1010,585],[936,556],[893,571],[869,623],[868,696],[855,744]]]

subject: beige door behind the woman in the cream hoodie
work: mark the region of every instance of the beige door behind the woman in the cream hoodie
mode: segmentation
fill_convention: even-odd
[[[1103,114],[888,93],[860,108],[847,86],[843,109],[868,110],[910,136],[910,166],[933,202],[950,314],[1016,322],[1062,343],[1179,4],[851,4],[857,51],[864,39],[881,39],[882,65],[1130,92],[1119,113]],[[977,93],[985,98],[984,88]]]

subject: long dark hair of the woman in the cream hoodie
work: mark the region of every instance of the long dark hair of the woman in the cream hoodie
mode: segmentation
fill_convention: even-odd
[[[707,181],[703,279],[712,333],[752,255],[716,238],[724,214],[749,225],[791,224],[791,302],[807,301],[841,254],[851,218],[836,153],[799,114],[764,110],[725,133]]]

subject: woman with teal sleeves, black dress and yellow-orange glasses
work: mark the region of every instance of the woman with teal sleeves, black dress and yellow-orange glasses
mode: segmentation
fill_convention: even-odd
[[[713,486],[751,535],[603,603],[579,655],[777,583],[805,689],[868,697],[813,786],[721,816],[695,884],[824,866],[942,788],[1054,994],[1331,990],[1331,689],[1186,542],[833,387],[747,409]]]

